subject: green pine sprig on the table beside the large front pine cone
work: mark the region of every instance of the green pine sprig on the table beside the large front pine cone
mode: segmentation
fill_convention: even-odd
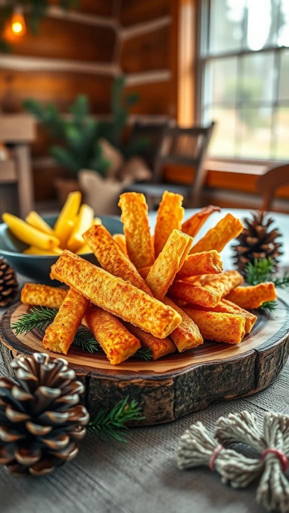
[[[102,435],[108,440],[127,442],[128,422],[135,422],[145,419],[141,415],[141,408],[136,401],[129,402],[127,396],[123,401],[117,403],[112,409],[101,408],[92,413],[88,424],[88,430]]]

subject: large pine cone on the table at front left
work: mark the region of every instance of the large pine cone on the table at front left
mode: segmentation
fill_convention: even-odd
[[[43,476],[77,455],[89,419],[84,386],[66,360],[47,354],[11,362],[16,383],[0,379],[0,464],[15,476]]]

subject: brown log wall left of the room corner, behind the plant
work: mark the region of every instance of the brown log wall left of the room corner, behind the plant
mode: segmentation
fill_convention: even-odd
[[[80,93],[90,98],[95,114],[110,111],[110,88],[115,74],[115,0],[80,0],[74,11],[62,12],[51,0],[48,15],[37,36],[13,44],[13,51],[0,54],[0,107],[2,112],[23,110],[31,97],[53,102],[65,112]],[[53,177],[65,170],[47,159],[51,143],[38,127],[32,145],[36,200],[55,197]]]

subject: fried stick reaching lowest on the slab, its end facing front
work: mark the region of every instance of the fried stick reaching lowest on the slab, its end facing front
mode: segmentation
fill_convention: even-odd
[[[86,310],[83,324],[101,345],[112,365],[130,358],[139,348],[139,340],[114,315],[98,306]]]

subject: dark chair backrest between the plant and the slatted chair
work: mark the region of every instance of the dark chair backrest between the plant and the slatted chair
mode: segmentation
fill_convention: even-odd
[[[142,157],[147,165],[153,170],[155,160],[159,154],[162,138],[166,128],[169,126],[169,120],[158,123],[136,121],[132,131],[132,139],[143,139],[143,147],[138,150],[138,156]]]

